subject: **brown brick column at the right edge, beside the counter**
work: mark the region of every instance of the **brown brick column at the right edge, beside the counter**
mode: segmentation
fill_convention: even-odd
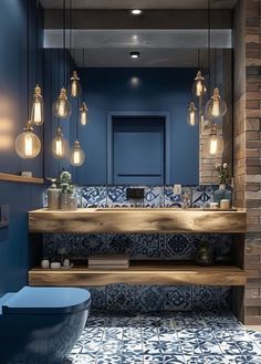
[[[234,205],[248,212],[246,324],[261,324],[260,6],[240,0],[234,12]]]

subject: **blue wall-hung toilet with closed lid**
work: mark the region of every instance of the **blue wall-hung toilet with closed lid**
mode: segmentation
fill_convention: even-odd
[[[91,294],[79,288],[24,287],[0,298],[0,363],[63,363],[81,335]]]

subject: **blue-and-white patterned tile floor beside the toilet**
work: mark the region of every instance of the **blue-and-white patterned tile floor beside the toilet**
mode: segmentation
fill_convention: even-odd
[[[73,364],[259,364],[261,333],[229,312],[91,313]]]

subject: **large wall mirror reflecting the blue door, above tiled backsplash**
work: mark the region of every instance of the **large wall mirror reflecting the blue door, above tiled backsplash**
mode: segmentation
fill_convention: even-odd
[[[88,124],[76,128],[74,117],[66,132],[71,144],[77,134],[86,154],[85,164],[74,170],[77,183],[218,184],[215,165],[223,160],[232,167],[231,14],[236,1],[215,2],[210,13],[208,1],[198,1],[197,10],[191,1],[185,1],[184,9],[178,9],[179,1],[164,1],[160,9],[148,7],[137,17],[125,10],[125,1],[123,9],[109,9],[107,1],[100,1],[98,9],[85,3],[85,9],[66,10],[72,25],[66,31],[67,69],[72,73],[72,64],[76,67],[81,102],[88,107]],[[63,59],[61,13],[62,9],[45,12],[45,60],[52,63],[45,80],[50,72],[56,74],[56,63]],[[208,89],[201,105],[191,93],[198,70]],[[52,90],[55,83],[58,90],[61,80],[52,82]],[[190,127],[186,119],[190,102],[203,111],[216,86],[228,113],[218,122],[223,155],[210,157],[202,155],[209,121]],[[79,104],[74,100],[72,104],[77,111]],[[60,167],[63,164],[67,166],[61,162]],[[52,165],[48,168],[55,170],[55,160]]]

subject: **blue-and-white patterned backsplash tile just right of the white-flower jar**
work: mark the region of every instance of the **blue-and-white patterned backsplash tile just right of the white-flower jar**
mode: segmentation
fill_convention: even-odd
[[[82,187],[82,207],[106,207],[107,188],[106,186],[86,186]]]

